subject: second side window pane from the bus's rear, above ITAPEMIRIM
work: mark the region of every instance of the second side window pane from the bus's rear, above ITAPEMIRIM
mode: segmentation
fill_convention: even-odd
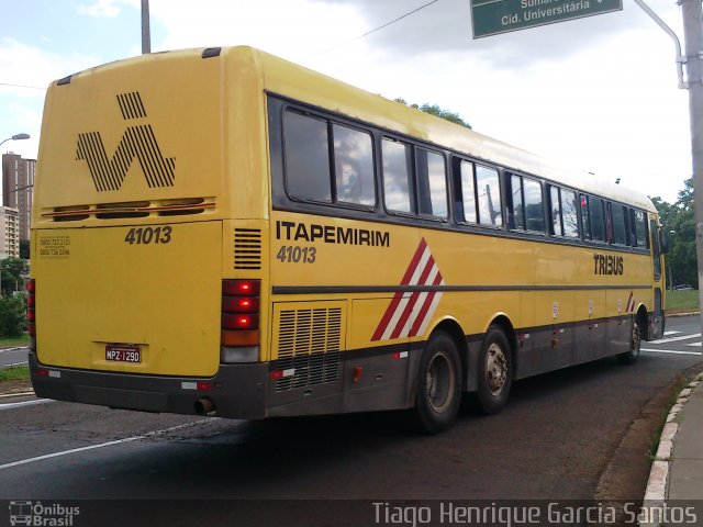
[[[373,148],[365,132],[334,124],[334,162],[337,201],[356,205],[376,205]]]

